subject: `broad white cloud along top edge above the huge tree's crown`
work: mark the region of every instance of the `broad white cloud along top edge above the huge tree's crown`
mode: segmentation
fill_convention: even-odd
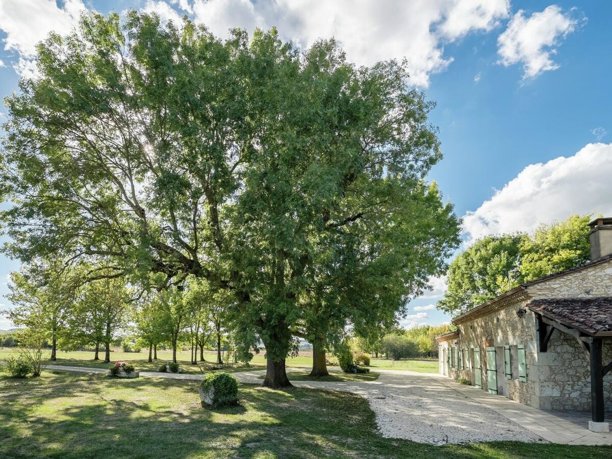
[[[228,29],[248,32],[278,26],[285,39],[309,47],[334,36],[349,61],[373,64],[406,58],[411,83],[427,86],[430,75],[452,62],[444,43],[474,31],[490,31],[509,11],[508,0],[195,0],[195,20],[225,36]]]

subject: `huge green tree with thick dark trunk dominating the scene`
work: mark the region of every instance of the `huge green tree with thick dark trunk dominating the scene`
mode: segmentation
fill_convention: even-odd
[[[91,279],[205,278],[263,340],[267,386],[289,385],[321,241],[406,297],[427,280],[412,239],[436,259],[456,243],[457,218],[424,184],[441,159],[433,105],[401,63],[357,68],[333,41],[300,53],[274,29],[222,41],[136,12],[86,16],[38,53],[39,78],[5,101],[6,251],[108,261]]]

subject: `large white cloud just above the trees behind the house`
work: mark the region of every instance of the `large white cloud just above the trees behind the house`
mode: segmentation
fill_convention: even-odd
[[[488,234],[533,231],[571,214],[612,215],[610,177],[612,144],[590,143],[573,156],[529,165],[463,217],[468,243]]]

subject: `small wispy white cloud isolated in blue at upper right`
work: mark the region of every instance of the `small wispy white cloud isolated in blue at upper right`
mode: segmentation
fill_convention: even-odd
[[[586,20],[573,17],[575,11],[564,13],[560,7],[551,5],[526,17],[524,10],[519,10],[499,35],[498,64],[508,67],[523,62],[523,80],[558,69],[559,65],[551,59],[557,51],[555,47]]]

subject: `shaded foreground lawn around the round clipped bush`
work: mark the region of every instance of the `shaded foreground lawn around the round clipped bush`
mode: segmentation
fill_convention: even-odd
[[[609,447],[496,442],[434,447],[383,438],[367,401],[241,385],[241,406],[200,406],[196,381],[44,371],[0,374],[7,458],[609,458]]]

